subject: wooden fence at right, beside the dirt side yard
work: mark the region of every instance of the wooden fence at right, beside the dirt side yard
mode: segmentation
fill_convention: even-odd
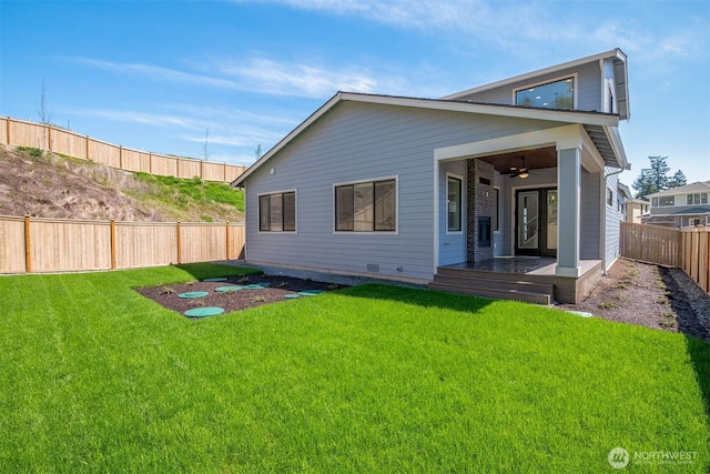
[[[710,293],[710,229],[621,222],[621,256],[682,269]]]

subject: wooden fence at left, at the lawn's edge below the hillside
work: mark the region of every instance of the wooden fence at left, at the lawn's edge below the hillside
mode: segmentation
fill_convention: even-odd
[[[133,269],[243,256],[244,223],[0,216],[0,273]]]

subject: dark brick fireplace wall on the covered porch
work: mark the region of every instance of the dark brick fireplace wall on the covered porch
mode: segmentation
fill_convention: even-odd
[[[493,259],[494,255],[493,235],[489,246],[478,245],[478,216],[493,216],[495,170],[493,164],[476,159],[467,160],[467,165],[466,255],[469,262],[478,262]]]

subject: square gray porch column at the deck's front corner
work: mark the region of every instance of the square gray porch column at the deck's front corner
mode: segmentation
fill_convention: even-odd
[[[579,200],[581,149],[557,151],[557,268],[558,276],[581,275],[579,265]]]

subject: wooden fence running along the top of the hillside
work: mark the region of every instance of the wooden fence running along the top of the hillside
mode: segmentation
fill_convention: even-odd
[[[33,147],[125,171],[187,179],[200,177],[205,181],[232,182],[247,168],[132,150],[57,127],[9,117],[0,118],[0,143]]]

